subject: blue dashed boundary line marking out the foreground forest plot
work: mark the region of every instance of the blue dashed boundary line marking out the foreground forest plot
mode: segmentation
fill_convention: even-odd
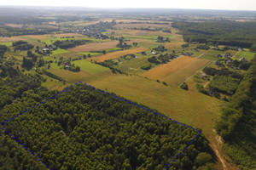
[[[82,84],[83,82],[79,82],[79,83]],[[76,82],[74,85],[77,85],[77,84],[79,84],[79,83]],[[64,88],[61,92],[59,92],[59,93],[53,95],[53,96],[50,97],[49,99],[53,99],[56,95],[65,92],[65,90],[67,91],[67,89],[73,88],[74,85],[71,85],[70,87]],[[100,91],[100,92],[102,92],[102,93],[109,94],[109,95],[113,96],[113,98],[115,98],[115,99],[123,100],[123,101],[125,101],[125,102],[127,102],[127,103],[129,103],[129,104],[131,104],[131,105],[137,105],[137,104],[135,104],[135,103],[132,103],[132,102],[129,101],[129,100],[122,99],[122,98],[120,98],[119,96],[115,96],[115,95],[113,95],[113,94],[110,94],[110,93],[108,93],[108,92],[105,92],[104,90],[101,90],[101,89],[99,89],[99,88],[95,88],[95,87],[93,87],[93,86],[90,86],[90,85],[88,85],[88,84],[86,84],[86,83],[84,83],[84,85],[86,85],[86,86],[88,86],[88,87],[90,87],[90,88],[96,89],[96,90],[98,90],[98,91]],[[8,134],[9,134],[9,137],[10,137],[10,138],[15,139],[15,141],[16,141],[18,144],[20,144],[22,147],[24,147],[25,150],[29,151],[29,152],[32,154],[32,156],[35,156],[35,154],[32,153],[31,150],[28,150],[25,145],[23,145],[22,143],[20,143],[20,141],[19,141],[18,139],[16,139],[14,135],[12,135],[12,134],[9,133],[7,130],[5,130],[5,128],[3,127],[3,125],[6,124],[6,123],[9,122],[9,121],[14,120],[16,117],[21,116],[22,114],[24,114],[24,113],[26,113],[26,112],[28,112],[28,111],[32,111],[32,109],[34,109],[36,106],[41,105],[41,104],[44,104],[44,102],[48,101],[49,99],[45,99],[44,101],[42,101],[42,102],[38,103],[37,105],[33,106],[31,109],[28,109],[27,111],[21,112],[19,115],[16,115],[16,116],[10,118],[9,120],[6,120],[6,121],[2,122],[2,123],[1,123],[2,125],[0,125],[0,127],[2,127],[2,129],[3,129],[3,131],[5,131],[5,133],[8,133]],[[163,118],[166,118],[166,120],[169,120],[169,121],[172,121],[172,122],[177,122],[177,121],[173,120],[172,118],[169,118],[169,117],[167,117],[167,116],[163,116],[163,115],[161,115],[161,114],[159,114],[159,113],[157,113],[157,112],[155,112],[155,111],[150,111],[150,110],[146,109],[145,107],[143,107],[143,106],[141,106],[141,105],[137,105],[137,106],[138,106],[139,108],[143,109],[143,110],[149,111],[150,113],[154,113],[154,114],[156,114],[156,115],[158,115],[158,116],[161,116],[161,117],[163,117]],[[186,124],[184,124],[184,123],[182,123],[182,122],[177,122],[177,123],[183,125],[184,127],[192,128],[193,130],[195,130],[195,131],[198,132],[198,134],[195,135],[195,138],[192,139],[192,140],[189,142],[189,144],[191,144],[191,143],[199,136],[199,134],[201,133],[200,130],[198,130],[198,129],[194,128],[194,127],[190,127],[190,126],[188,126],[188,125],[186,125]],[[177,159],[177,157],[180,156],[180,155],[183,153],[183,151],[189,146],[189,144],[187,144],[187,145],[183,148],[183,150],[182,150],[180,153],[178,153],[177,156],[175,156],[175,158],[172,160],[172,162],[175,161],[175,160]],[[42,161],[40,158],[38,158],[38,156],[35,156],[35,158],[37,158],[38,161],[41,161],[41,162],[44,164],[44,161]],[[170,165],[172,165],[172,162],[170,162],[170,163],[168,164],[168,166],[166,166],[166,169],[168,169],[168,167],[169,167]],[[49,168],[49,166],[47,166],[47,165],[45,165],[45,164],[44,164],[44,166],[47,167],[47,168]],[[49,170],[52,170],[52,169],[49,168]]]

